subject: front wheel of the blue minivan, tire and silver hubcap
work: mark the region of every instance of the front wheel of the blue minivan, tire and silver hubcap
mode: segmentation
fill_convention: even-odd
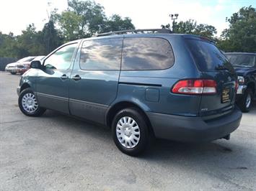
[[[41,116],[45,112],[45,108],[41,108],[38,105],[35,94],[31,88],[22,90],[18,102],[20,111],[26,116]]]

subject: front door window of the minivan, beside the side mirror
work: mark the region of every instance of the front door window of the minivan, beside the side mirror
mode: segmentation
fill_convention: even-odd
[[[77,43],[66,45],[65,47],[61,47],[61,49],[57,50],[50,55],[45,62],[44,65],[49,69],[56,70],[67,70],[71,65],[71,58],[74,54],[74,50],[76,49]]]

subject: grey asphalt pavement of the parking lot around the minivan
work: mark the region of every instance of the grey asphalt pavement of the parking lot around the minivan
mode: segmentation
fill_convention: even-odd
[[[256,103],[229,141],[156,141],[129,157],[109,129],[54,111],[23,115],[19,78],[0,72],[0,190],[256,190]]]

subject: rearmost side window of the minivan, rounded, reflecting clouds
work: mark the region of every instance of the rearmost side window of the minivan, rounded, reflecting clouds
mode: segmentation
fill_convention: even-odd
[[[154,37],[124,39],[122,70],[163,70],[173,64],[172,47],[166,39]]]

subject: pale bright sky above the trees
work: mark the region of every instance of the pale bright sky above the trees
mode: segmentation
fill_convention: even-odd
[[[48,6],[48,1],[51,6]],[[256,8],[255,0],[95,0],[105,7],[105,14],[130,17],[136,29],[160,28],[172,22],[169,14],[179,14],[177,22],[194,19],[198,24],[216,27],[218,36],[229,24],[226,17],[242,6]],[[4,34],[21,34],[28,24],[43,29],[48,22],[47,11],[67,8],[67,0],[0,0],[0,31]]]

